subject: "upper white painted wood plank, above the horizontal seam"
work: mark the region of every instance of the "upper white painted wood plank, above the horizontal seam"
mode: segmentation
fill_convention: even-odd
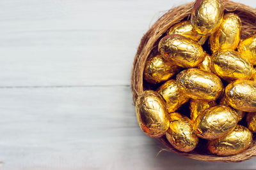
[[[2,0],[0,86],[129,85],[143,33],[186,2]]]

